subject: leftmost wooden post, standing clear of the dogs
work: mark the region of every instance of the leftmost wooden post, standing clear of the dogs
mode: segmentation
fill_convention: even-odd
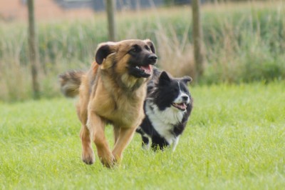
[[[38,47],[36,41],[33,0],[28,0],[27,5],[28,5],[28,51],[29,51],[29,60],[31,62],[33,99],[38,99],[40,98],[40,87],[38,83]]]

